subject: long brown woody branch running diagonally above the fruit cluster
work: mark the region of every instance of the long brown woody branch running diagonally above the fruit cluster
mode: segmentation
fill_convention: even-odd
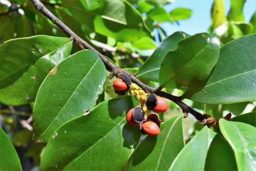
[[[62,23],[61,20],[59,20],[53,13],[51,13],[44,6],[44,4],[42,4],[39,0],[31,0],[31,2],[34,4],[35,8],[38,11],[40,11],[44,16],[48,17],[52,21],[53,24],[58,26],[64,33],[66,33],[68,36],[70,36],[70,38],[74,39],[77,42],[78,46],[79,46],[79,44],[81,44],[85,49],[90,49],[90,50],[96,52],[99,55],[100,59],[103,61],[106,69],[108,71],[112,72],[113,75],[117,76],[117,74],[120,73],[120,71],[121,71],[122,73],[125,73],[125,74],[129,75],[131,80],[134,83],[136,83],[139,87],[141,87],[145,92],[155,93],[158,96],[161,96],[161,97],[167,98],[169,100],[172,100],[173,102],[175,102],[176,104],[178,104],[180,106],[183,113],[185,113],[185,114],[190,113],[193,116],[195,116],[195,118],[199,121],[202,121],[203,119],[205,119],[205,117],[201,113],[195,111],[194,109],[190,108],[188,105],[183,103],[181,101],[182,100],[181,97],[165,93],[165,92],[161,91],[160,89],[149,87],[146,84],[142,83],[132,73],[124,71],[124,70],[118,68],[117,66],[115,66],[114,63],[112,63],[110,60],[106,59],[96,49],[94,49],[91,45],[89,45],[88,42],[81,39],[68,26],[66,26],[64,23]]]

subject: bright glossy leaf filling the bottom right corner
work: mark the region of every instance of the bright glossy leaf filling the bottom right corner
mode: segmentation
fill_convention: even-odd
[[[220,130],[234,151],[238,170],[255,170],[256,128],[246,123],[220,119]]]

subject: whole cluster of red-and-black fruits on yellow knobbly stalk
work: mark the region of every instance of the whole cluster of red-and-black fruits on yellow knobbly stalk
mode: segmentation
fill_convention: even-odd
[[[134,95],[139,102],[137,108],[131,109],[126,114],[126,122],[130,126],[140,126],[142,134],[156,136],[160,133],[160,122],[162,121],[155,113],[167,111],[168,104],[162,97],[156,97],[154,93],[145,93],[137,84],[132,83],[129,76],[121,74],[113,83],[113,88],[118,95],[128,91]]]

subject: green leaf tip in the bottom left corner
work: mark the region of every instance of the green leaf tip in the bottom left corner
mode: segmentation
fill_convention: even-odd
[[[1,128],[0,140],[0,170],[22,170],[15,148]]]

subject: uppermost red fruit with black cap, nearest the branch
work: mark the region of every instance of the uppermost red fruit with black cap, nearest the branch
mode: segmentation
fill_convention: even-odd
[[[126,84],[126,87],[123,85],[122,82],[120,83],[120,87],[118,87],[118,85],[115,84],[115,81],[117,81],[118,79],[122,79],[122,81]],[[114,81],[114,83],[113,83],[113,87],[115,89],[115,93],[118,94],[118,95],[124,95],[131,88],[131,84],[132,84],[131,78],[128,75],[126,75],[126,74],[120,74],[118,79],[116,79]],[[118,81],[120,81],[120,80],[118,80]],[[116,82],[116,83],[118,83],[118,82]],[[126,89],[124,89],[124,88],[126,88]]]

